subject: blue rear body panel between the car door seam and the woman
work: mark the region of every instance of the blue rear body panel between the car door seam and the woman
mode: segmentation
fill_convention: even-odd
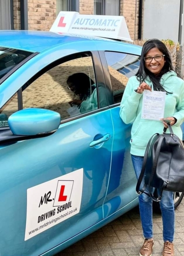
[[[131,162],[131,125],[125,125],[119,118],[119,107],[111,108],[114,128],[111,174],[104,202],[104,217],[112,215],[137,198],[137,182]]]

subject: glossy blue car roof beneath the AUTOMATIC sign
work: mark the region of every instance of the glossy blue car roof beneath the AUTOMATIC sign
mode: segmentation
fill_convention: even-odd
[[[98,40],[101,43],[109,44],[117,42],[111,39],[99,37],[82,36],[77,34],[56,34],[49,31],[32,31],[32,30],[1,30],[0,31],[0,47],[17,48],[31,52],[42,52],[47,48],[54,47],[58,44],[67,44],[70,42],[89,42]],[[127,43],[122,43],[129,45]],[[133,45],[132,45],[133,47]],[[135,47],[135,45],[134,45]],[[136,46],[138,47],[138,46]]]

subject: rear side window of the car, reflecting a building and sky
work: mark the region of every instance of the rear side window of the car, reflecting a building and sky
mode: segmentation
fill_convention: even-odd
[[[129,77],[138,72],[140,56],[117,52],[105,52],[105,58],[111,77],[114,103],[119,103],[122,99]]]

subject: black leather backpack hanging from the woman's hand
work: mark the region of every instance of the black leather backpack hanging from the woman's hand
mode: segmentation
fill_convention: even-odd
[[[163,190],[184,192],[184,144],[174,135],[168,124],[170,134],[154,134],[148,142],[141,173],[138,178],[136,192],[145,193],[153,201],[160,201]],[[145,185],[140,184],[145,178]],[[149,193],[144,192],[148,186]],[[158,189],[158,198],[153,196],[152,188]]]

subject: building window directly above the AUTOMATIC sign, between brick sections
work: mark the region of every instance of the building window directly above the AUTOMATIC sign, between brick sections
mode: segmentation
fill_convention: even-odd
[[[94,0],[94,14],[119,15],[119,0]]]

